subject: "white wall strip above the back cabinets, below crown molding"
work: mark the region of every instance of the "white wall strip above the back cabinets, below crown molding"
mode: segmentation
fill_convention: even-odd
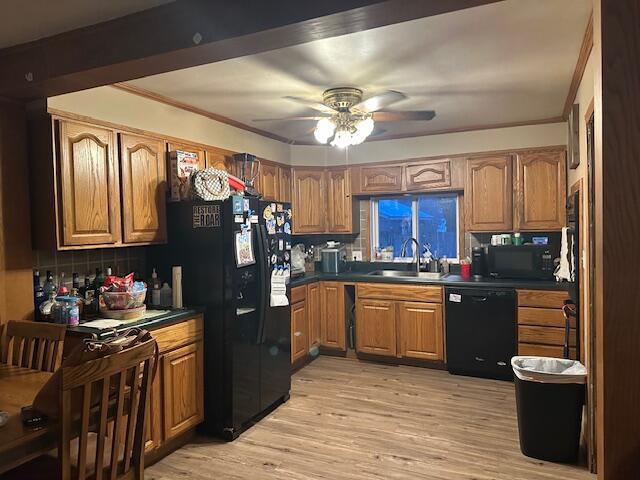
[[[345,165],[384,162],[492,150],[566,145],[564,122],[473,132],[446,133],[398,140],[380,140],[340,150],[327,146],[293,145],[293,165]]]

